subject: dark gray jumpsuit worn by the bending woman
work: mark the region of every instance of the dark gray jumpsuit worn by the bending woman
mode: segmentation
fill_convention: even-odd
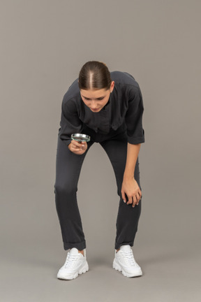
[[[77,183],[84,157],[94,143],[100,143],[107,153],[117,181],[120,200],[114,248],[118,249],[121,245],[133,246],[137,232],[142,200],[134,208],[131,204],[124,203],[121,185],[126,165],[127,143],[144,143],[142,93],[132,75],[121,71],[113,71],[110,74],[114,80],[114,89],[100,112],[93,113],[84,104],[80,96],[78,79],[68,88],[61,104],[54,194],[64,250],[72,247],[77,247],[78,250],[86,248],[77,206]],[[82,155],[74,154],[68,149],[70,135],[73,133],[91,136],[91,141],[87,143],[87,151]],[[138,157],[134,178],[142,191]]]

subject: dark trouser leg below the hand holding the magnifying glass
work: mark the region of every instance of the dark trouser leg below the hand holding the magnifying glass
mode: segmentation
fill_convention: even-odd
[[[64,242],[64,250],[77,247],[86,248],[86,241],[82,229],[82,220],[77,205],[77,182],[84,157],[93,142],[87,143],[87,151],[77,155],[58,137],[56,180],[54,184],[55,203]]]

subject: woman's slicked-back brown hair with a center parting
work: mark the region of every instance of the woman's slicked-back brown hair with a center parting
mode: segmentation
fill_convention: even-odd
[[[89,61],[82,66],[79,73],[80,89],[110,89],[110,71],[103,62]]]

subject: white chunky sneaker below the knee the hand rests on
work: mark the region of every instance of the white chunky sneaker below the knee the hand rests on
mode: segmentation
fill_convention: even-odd
[[[115,270],[121,271],[128,278],[142,275],[142,270],[133,256],[131,245],[121,245],[120,250],[116,251],[112,265]]]

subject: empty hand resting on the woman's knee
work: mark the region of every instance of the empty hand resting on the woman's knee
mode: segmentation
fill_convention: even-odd
[[[127,203],[125,194],[128,197]],[[135,204],[138,206],[138,203],[142,197],[142,192],[135,178],[124,178],[121,186],[121,196],[127,205],[133,203],[133,208],[135,207]]]

